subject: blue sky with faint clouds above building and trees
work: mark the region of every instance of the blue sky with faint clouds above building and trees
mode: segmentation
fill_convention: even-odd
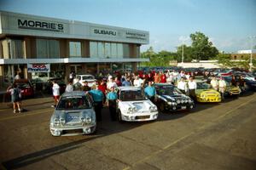
[[[195,31],[225,53],[256,44],[256,0],[0,0],[0,10],[149,31],[141,51],[175,52]]]

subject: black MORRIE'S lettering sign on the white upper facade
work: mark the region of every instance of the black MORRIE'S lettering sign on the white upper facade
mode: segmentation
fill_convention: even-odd
[[[21,20],[18,19],[18,27],[20,29],[38,30],[38,31],[55,31],[63,32],[64,26],[61,23],[45,22],[39,20]]]

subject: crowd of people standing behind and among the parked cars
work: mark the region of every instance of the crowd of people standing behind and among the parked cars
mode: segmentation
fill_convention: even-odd
[[[141,87],[144,90],[145,96],[148,99],[154,102],[155,97],[155,89],[152,86],[153,83],[170,83],[175,86],[183,93],[189,95],[192,99],[195,99],[195,90],[197,88],[195,82],[195,72],[186,73],[185,71],[159,71],[159,72],[137,72],[131,73],[126,72],[124,74],[115,74],[115,75],[108,75],[103,77],[100,80],[97,80],[93,83],[92,86],[88,85],[88,82],[79,82],[76,80],[75,74],[72,72],[69,75],[69,82],[67,83],[66,92],[72,92],[81,90],[84,91],[92,97],[94,101],[94,105],[96,105],[96,114],[98,120],[101,120],[101,110],[102,105],[108,105],[109,111],[111,113],[111,117],[115,120],[115,107],[116,107],[116,100],[118,99],[117,95],[117,88],[120,86],[135,86]],[[224,99],[224,90],[227,86],[223,77],[219,77],[217,80],[214,77],[212,72],[205,71],[203,73],[203,78],[211,84],[212,88],[216,89]],[[53,81],[52,92],[54,98],[54,106],[57,105],[60,99],[60,86]],[[245,88],[245,82],[243,77],[239,80],[236,80],[235,77],[232,77],[231,80],[232,85],[239,86],[241,89]],[[12,87],[9,87],[7,91],[11,94],[11,99],[13,102],[14,112],[21,111],[21,92],[20,89],[17,88],[15,84]]]

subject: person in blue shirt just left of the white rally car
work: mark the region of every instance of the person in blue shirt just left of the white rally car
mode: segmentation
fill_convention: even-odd
[[[107,94],[107,104],[110,112],[110,117],[112,121],[116,120],[116,100],[118,99],[118,95],[114,91],[114,87],[110,88],[110,92]]]

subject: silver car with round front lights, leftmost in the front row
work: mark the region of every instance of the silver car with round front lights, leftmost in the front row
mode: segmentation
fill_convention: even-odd
[[[53,136],[89,134],[96,132],[96,113],[88,94],[67,92],[50,117],[49,130]]]

